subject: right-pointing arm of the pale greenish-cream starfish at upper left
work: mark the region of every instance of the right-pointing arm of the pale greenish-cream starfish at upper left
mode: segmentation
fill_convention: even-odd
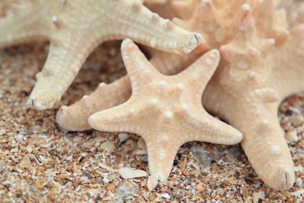
[[[113,30],[120,39],[130,38],[143,45],[174,53],[189,53],[201,42],[200,33],[190,32],[151,12],[138,1],[111,1],[108,9],[118,13]],[[126,16],[126,13],[128,14]],[[125,21],[131,21],[125,23]]]

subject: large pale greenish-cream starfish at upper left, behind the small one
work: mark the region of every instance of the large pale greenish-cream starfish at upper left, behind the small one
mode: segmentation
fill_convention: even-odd
[[[61,4],[60,4],[61,3]],[[27,105],[52,108],[90,52],[107,40],[130,38],[157,49],[189,53],[201,35],[150,12],[140,1],[37,0],[0,21],[0,47],[50,39],[48,58]]]

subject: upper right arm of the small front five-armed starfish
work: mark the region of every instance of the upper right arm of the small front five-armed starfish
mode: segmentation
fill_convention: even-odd
[[[193,91],[194,94],[202,96],[208,81],[216,70],[219,60],[219,51],[216,49],[211,50],[201,56],[183,72],[179,73],[176,76],[178,78],[177,80],[186,81],[186,85],[189,86],[189,88],[195,89],[195,91]],[[199,100],[201,100],[201,97]]]

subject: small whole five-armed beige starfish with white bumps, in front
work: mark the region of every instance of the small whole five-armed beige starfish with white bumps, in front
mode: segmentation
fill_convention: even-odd
[[[220,59],[218,50],[207,52],[175,76],[159,73],[129,39],[123,41],[121,50],[132,95],[124,104],[90,116],[89,124],[100,131],[133,132],[144,139],[151,176],[149,190],[154,189],[155,180],[163,182],[169,177],[183,143],[241,142],[239,131],[209,115],[201,103]]]

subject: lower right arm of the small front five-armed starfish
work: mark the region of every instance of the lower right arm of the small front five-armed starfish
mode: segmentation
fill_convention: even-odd
[[[242,141],[240,131],[209,115],[205,110],[193,110],[186,117],[190,127],[184,134],[185,142],[200,141],[221,145],[235,145]]]

